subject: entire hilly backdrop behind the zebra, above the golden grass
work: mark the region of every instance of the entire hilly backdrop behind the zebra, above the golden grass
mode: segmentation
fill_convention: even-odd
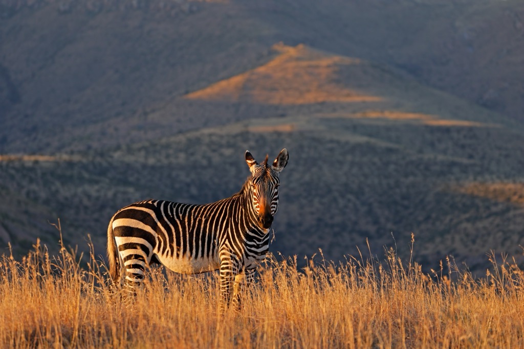
[[[286,147],[272,251],[340,260],[369,238],[405,256],[413,232],[424,270],[521,255],[522,124],[474,103],[493,62],[520,76],[517,3],[298,4],[2,2],[3,247],[56,248],[60,217],[67,244],[102,250],[118,208],[229,196],[246,149]]]

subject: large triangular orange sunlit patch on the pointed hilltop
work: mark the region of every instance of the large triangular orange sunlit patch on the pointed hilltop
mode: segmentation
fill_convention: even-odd
[[[278,55],[268,63],[185,96],[188,99],[302,105],[322,102],[376,102],[337,82],[337,71],[360,60],[329,55],[299,44],[276,44]]]

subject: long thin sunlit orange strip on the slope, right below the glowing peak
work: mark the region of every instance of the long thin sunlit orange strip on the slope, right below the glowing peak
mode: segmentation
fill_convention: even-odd
[[[396,110],[366,110],[357,113],[331,113],[321,114],[323,118],[339,119],[380,119],[394,121],[408,121],[422,123],[428,126],[462,126],[462,127],[496,127],[495,124],[474,122],[467,120],[439,119],[436,116],[420,112],[405,112]]]

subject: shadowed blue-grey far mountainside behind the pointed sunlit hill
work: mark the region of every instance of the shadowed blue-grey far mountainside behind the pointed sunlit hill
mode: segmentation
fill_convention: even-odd
[[[515,119],[524,107],[517,0],[34,0],[2,1],[0,14],[3,153],[102,149],[267,115],[180,103],[147,119],[269,62],[280,41],[396,66]],[[225,119],[209,116],[216,108]]]

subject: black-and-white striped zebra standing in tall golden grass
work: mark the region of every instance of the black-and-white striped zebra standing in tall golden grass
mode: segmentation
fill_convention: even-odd
[[[269,250],[279,174],[289,159],[286,149],[272,165],[268,157],[259,164],[246,151],[251,174],[231,197],[205,205],[145,200],[118,210],[107,228],[113,282],[125,268],[125,283],[139,286],[153,263],[181,274],[220,269],[221,310],[229,308],[232,299],[240,307],[242,285],[254,282],[256,267]]]

